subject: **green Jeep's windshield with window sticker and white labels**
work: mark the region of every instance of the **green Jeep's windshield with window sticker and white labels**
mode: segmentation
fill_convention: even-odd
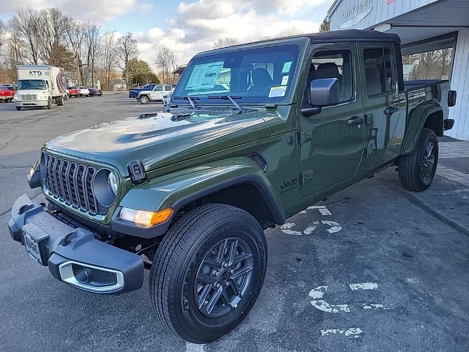
[[[240,103],[281,101],[290,91],[299,52],[298,45],[284,45],[193,59],[172,100],[191,96],[200,102],[230,95]]]

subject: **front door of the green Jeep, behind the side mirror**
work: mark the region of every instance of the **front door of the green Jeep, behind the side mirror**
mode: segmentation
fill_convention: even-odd
[[[362,160],[365,129],[362,90],[356,89],[355,81],[358,62],[355,43],[315,46],[305,89],[313,79],[337,78],[339,104],[310,117],[299,114],[300,189],[304,196],[351,178]],[[308,94],[306,89],[305,99]]]

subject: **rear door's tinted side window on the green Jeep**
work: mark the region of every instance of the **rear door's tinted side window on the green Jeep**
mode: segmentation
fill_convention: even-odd
[[[393,92],[391,50],[389,48],[365,49],[364,57],[368,96]]]

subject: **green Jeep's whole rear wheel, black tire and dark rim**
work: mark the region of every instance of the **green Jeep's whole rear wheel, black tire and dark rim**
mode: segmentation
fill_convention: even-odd
[[[399,158],[399,180],[413,192],[426,190],[435,177],[438,165],[438,139],[432,129],[423,128],[414,150]]]

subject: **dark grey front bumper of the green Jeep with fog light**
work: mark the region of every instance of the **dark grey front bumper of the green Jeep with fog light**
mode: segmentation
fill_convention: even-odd
[[[87,229],[63,223],[25,194],[13,204],[8,228],[22,245],[23,233],[39,239],[43,265],[55,278],[78,289],[116,295],[143,285],[140,256],[98,240]]]

